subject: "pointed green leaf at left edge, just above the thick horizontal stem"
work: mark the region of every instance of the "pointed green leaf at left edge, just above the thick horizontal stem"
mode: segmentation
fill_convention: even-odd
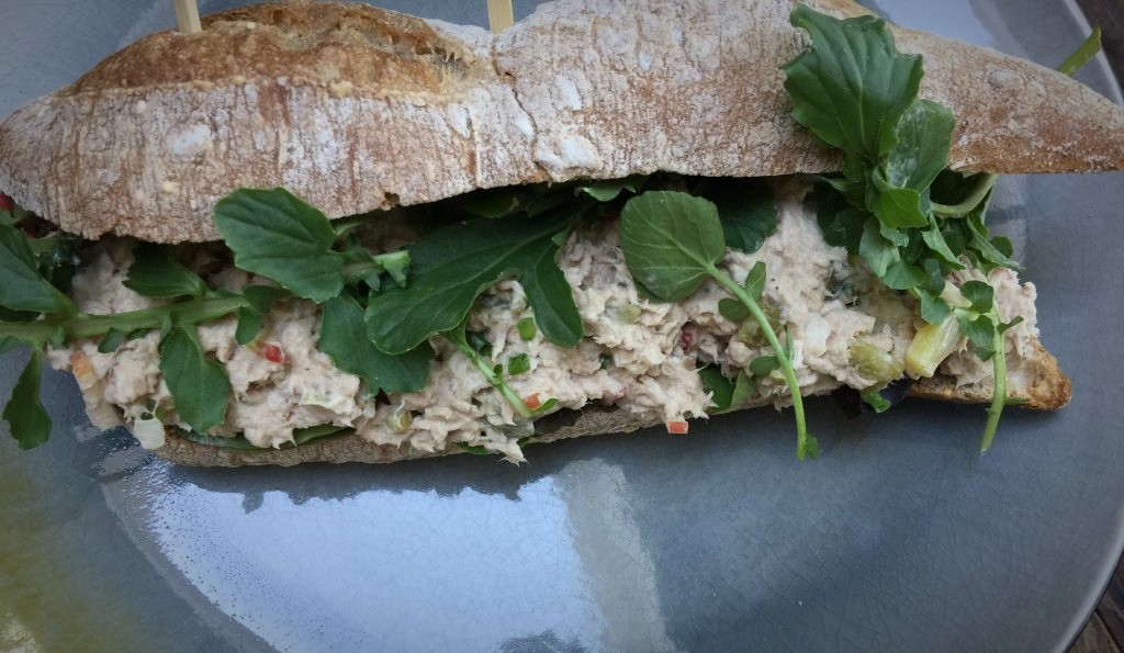
[[[12,310],[72,312],[74,303],[39,274],[22,232],[0,225],[0,306]]]

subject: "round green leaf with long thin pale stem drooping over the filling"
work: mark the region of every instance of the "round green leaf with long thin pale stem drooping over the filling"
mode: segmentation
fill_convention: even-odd
[[[647,191],[628,200],[620,211],[620,248],[633,278],[662,301],[691,294],[708,278],[717,281],[745,307],[773,350],[792,398],[796,414],[796,455],[819,455],[818,441],[808,433],[800,384],[792,369],[791,346],[782,345],[758,297],[717,266],[726,241],[717,207],[677,191]]]

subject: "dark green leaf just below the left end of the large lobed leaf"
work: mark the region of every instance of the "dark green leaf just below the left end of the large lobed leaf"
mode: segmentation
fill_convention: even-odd
[[[433,347],[423,342],[391,355],[368,339],[363,310],[348,296],[324,303],[320,314],[320,351],[344,372],[366,379],[372,392],[417,392],[429,378]]]

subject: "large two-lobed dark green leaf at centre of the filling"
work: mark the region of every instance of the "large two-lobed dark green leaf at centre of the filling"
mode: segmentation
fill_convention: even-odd
[[[563,207],[534,219],[477,220],[429,234],[410,247],[409,285],[371,297],[368,335],[383,352],[410,351],[455,328],[480,293],[514,276],[543,335],[556,345],[577,346],[584,327],[551,241],[574,215]]]

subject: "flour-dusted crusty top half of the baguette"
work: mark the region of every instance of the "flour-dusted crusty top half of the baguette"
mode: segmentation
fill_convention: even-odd
[[[846,0],[809,0],[840,16]],[[237,187],[332,217],[493,188],[671,171],[823,172],[780,66],[794,0],[560,0],[499,35],[289,2],[147,36],[0,125],[0,191],[64,229],[218,237]],[[951,165],[1124,169],[1124,111],[1060,73],[895,28],[957,115]]]

